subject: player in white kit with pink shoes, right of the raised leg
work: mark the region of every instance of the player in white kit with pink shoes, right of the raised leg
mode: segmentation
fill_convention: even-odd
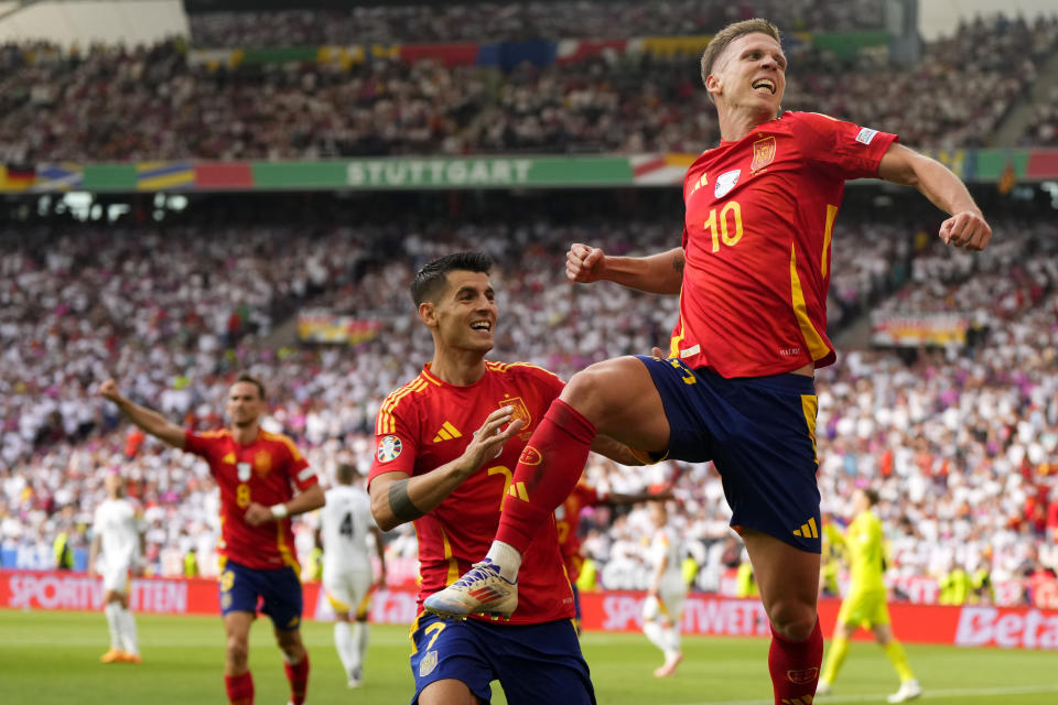
[[[643,632],[665,652],[665,663],[654,671],[657,677],[663,677],[673,675],[676,666],[683,660],[680,621],[687,598],[687,582],[680,563],[680,541],[668,525],[669,513],[665,502],[650,506],[650,519],[656,528],[650,542],[654,575],[643,604]]]

